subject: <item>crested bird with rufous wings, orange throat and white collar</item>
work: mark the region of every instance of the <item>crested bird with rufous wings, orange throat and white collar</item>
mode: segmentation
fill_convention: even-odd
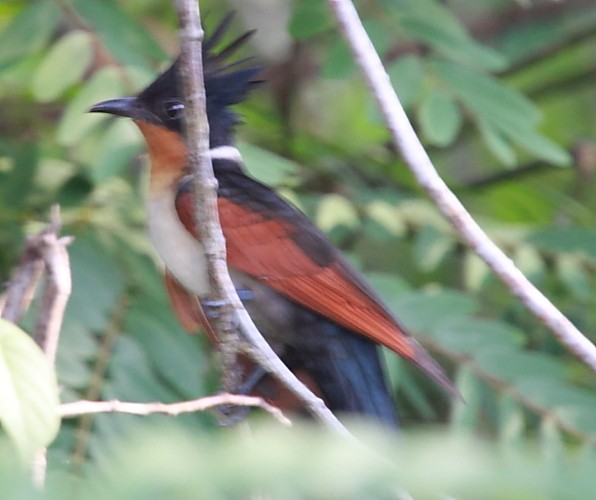
[[[449,393],[458,392],[328,238],[271,187],[252,178],[234,155],[222,154],[234,146],[240,123],[233,106],[262,82],[257,78],[261,68],[246,60],[229,62],[253,31],[216,50],[230,22],[227,16],[206,37],[202,58],[217,205],[234,286],[268,343],[330,410],[397,427],[379,345],[418,366]],[[193,219],[180,64],[176,59],[138,95],[102,101],[89,111],[130,118],[144,136],[150,163],[148,230],[165,264],[168,294],[183,325],[202,325],[217,343],[208,314],[206,260]],[[283,387],[275,387],[246,358],[242,364],[244,390],[256,395],[270,390],[274,404],[277,395],[283,406]]]

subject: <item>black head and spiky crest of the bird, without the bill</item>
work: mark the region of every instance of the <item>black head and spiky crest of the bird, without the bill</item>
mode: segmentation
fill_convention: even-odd
[[[219,51],[216,50],[232,19],[233,14],[228,14],[203,43],[203,73],[211,147],[231,143],[231,133],[238,123],[238,117],[231,106],[246,99],[248,92],[261,83],[256,79],[261,68],[246,66],[250,59],[229,62],[230,57],[246,43],[254,30],[241,35]],[[182,133],[184,98],[179,81],[179,65],[180,60],[176,59],[137,99],[139,104],[155,115],[161,125]]]

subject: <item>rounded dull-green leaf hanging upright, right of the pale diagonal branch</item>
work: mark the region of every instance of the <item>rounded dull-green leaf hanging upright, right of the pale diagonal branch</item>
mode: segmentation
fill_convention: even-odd
[[[451,144],[462,125],[462,115],[453,96],[442,89],[433,89],[420,103],[418,119],[431,144]]]

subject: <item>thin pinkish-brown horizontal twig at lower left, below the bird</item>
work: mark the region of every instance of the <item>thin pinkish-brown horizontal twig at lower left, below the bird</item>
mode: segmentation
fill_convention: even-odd
[[[81,415],[95,413],[128,413],[130,415],[152,415],[161,413],[165,415],[180,415],[205,411],[218,406],[250,406],[261,408],[269,413],[283,425],[291,426],[292,422],[279,408],[267,403],[264,399],[255,396],[237,394],[217,394],[205,398],[181,401],[179,403],[129,403],[124,401],[75,401],[60,405],[59,412],[62,418],[74,418]]]

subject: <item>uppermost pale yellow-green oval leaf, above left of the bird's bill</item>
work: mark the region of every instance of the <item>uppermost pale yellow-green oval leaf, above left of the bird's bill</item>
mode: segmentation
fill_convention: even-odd
[[[93,41],[89,33],[82,30],[67,33],[54,44],[33,75],[33,96],[40,102],[58,98],[82,78],[92,57]]]

